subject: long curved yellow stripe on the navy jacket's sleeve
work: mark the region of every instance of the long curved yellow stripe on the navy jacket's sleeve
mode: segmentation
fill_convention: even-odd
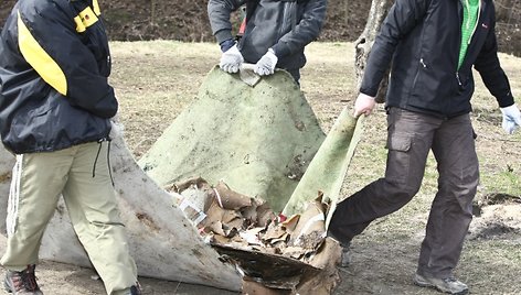
[[[18,45],[23,58],[36,70],[40,77],[56,91],[66,96],[67,79],[65,74],[31,34],[25,23],[23,23],[20,12],[18,13]]]

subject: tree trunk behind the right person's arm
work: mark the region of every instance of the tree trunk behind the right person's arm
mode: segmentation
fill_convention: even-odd
[[[389,9],[391,8],[393,0],[373,0],[371,3],[371,10],[369,11],[368,22],[365,29],[359,39],[354,42],[355,57],[354,68],[357,74],[357,88],[360,88],[362,84],[362,77],[365,69],[365,63],[368,56],[373,46],[374,39],[380,32],[380,26],[387,15]],[[389,69],[387,69],[389,74]],[[376,102],[385,101],[385,91],[387,88],[389,75],[384,77],[380,85],[379,92],[376,95]]]

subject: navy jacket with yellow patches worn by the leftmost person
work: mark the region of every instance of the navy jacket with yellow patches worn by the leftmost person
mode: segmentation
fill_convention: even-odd
[[[13,153],[103,140],[118,103],[97,0],[20,0],[0,41],[0,132]]]

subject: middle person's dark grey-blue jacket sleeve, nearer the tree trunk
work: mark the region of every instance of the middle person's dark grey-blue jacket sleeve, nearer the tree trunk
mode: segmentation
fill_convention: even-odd
[[[319,36],[326,18],[327,2],[327,0],[306,2],[302,19],[273,46],[278,57],[301,51]]]

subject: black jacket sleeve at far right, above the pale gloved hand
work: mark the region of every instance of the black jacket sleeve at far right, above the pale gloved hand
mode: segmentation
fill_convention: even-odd
[[[492,2],[490,2],[492,6]],[[492,15],[493,12],[492,12]],[[499,107],[504,108],[513,105],[513,96],[510,84],[498,58],[498,43],[496,40],[496,20],[491,23],[491,29],[487,35],[481,51],[479,52],[474,67],[479,72],[485,86],[498,100]]]

